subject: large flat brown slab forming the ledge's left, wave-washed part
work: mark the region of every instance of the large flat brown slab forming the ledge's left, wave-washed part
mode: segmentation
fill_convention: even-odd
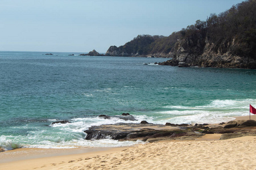
[[[195,133],[184,127],[173,127],[156,124],[114,124],[92,126],[85,130],[87,140],[114,139],[119,141],[150,141],[149,139],[179,138],[179,137],[200,137],[201,133]],[[155,140],[151,140],[155,141]],[[157,140],[156,140],[157,141]]]

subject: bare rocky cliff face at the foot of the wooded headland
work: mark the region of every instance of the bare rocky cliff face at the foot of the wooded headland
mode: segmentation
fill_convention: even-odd
[[[172,53],[173,59],[159,64],[180,67],[256,69],[256,59],[253,56],[235,53],[235,49],[241,48],[241,44],[236,38],[224,39],[220,44],[216,44],[210,42],[204,32],[199,31],[186,39],[177,40]]]

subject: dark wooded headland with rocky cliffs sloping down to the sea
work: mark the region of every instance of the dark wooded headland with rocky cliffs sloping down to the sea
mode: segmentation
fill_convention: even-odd
[[[247,0],[168,37],[139,35],[106,56],[172,57],[163,65],[256,69],[256,1]]]

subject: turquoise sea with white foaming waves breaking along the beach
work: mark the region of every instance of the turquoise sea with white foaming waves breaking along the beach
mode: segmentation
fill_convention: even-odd
[[[217,123],[256,106],[256,70],[154,64],[166,58],[43,54],[0,52],[0,147],[133,145],[84,141],[83,131],[125,122],[102,120],[100,114],[130,113],[134,122],[158,124]],[[51,125],[56,120],[71,123]]]

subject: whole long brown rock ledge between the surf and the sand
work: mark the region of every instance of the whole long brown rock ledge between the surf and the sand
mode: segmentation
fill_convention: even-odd
[[[205,134],[222,134],[221,138],[237,138],[246,135],[256,136],[256,121],[231,121],[220,125],[188,124],[125,124],[92,126],[84,131],[86,140],[114,139],[119,141],[156,142],[162,140],[191,140]]]

